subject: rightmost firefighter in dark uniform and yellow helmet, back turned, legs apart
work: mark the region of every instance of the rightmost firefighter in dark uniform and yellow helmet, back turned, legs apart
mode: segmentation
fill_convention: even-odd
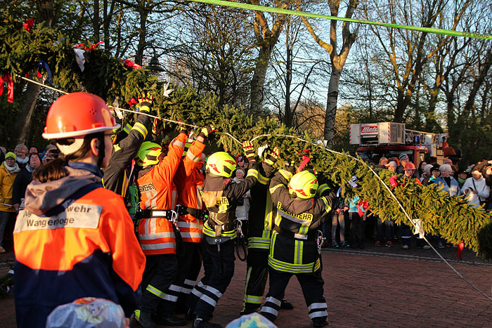
[[[320,260],[323,235],[318,234],[331,210],[333,197],[325,196],[327,192],[328,186],[318,188],[318,180],[310,171],[292,176],[280,170],[271,178],[270,193],[277,214],[268,254],[270,289],[261,315],[272,322],[277,318],[290,277],[296,275],[314,327],[328,325]]]

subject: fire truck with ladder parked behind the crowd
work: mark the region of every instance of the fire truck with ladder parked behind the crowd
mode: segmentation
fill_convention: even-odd
[[[382,122],[351,124],[350,143],[360,145],[357,155],[368,162],[379,162],[381,157],[396,157],[406,153],[418,167],[421,162],[443,164],[442,146],[446,133],[428,133],[405,128],[405,124]]]

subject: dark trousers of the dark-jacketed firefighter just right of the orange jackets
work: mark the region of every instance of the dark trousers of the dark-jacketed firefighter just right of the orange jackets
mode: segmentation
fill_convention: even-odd
[[[205,277],[191,291],[187,306],[194,315],[208,321],[234,275],[234,241],[220,244],[220,253],[217,245],[208,244],[205,238],[202,247]]]

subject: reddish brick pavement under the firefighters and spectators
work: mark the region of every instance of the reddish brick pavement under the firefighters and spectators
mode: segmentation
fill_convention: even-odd
[[[430,252],[415,249],[413,253],[401,253],[397,247],[385,251],[373,247],[323,251],[330,327],[491,327],[492,301],[442,261],[433,259]],[[442,252],[455,257],[455,249]],[[466,261],[453,266],[491,296],[489,262]],[[213,322],[225,326],[238,316],[244,280],[245,263],[236,261],[233,282],[219,301]],[[294,277],[286,298],[295,308],[280,312],[278,327],[312,327]],[[0,327],[15,327],[13,299],[0,299],[0,307]]]

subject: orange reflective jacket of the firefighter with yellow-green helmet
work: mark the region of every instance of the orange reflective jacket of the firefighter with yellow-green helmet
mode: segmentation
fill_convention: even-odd
[[[174,210],[176,207],[173,178],[181,162],[186,137],[186,133],[179,133],[169,144],[169,152],[162,162],[136,181],[141,209]],[[138,240],[145,255],[176,254],[176,236],[167,218],[142,218],[138,223]]]

